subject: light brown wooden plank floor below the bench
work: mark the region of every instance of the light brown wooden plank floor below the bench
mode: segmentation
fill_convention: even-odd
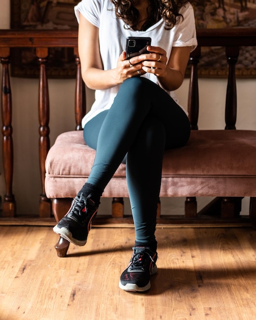
[[[256,318],[256,232],[157,228],[158,273],[147,293],[118,287],[133,228],[92,228],[58,258],[51,227],[0,226],[1,320]]]

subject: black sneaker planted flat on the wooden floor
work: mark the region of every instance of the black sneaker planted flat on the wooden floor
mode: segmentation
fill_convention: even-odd
[[[133,247],[131,260],[120,277],[119,287],[125,291],[147,291],[150,276],[157,272],[157,253],[147,247]]]

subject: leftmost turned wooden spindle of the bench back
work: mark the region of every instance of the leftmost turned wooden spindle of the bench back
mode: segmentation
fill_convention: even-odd
[[[14,217],[16,215],[16,202],[12,193],[13,181],[13,140],[12,140],[12,93],[9,75],[10,49],[0,49],[0,59],[3,65],[2,71],[2,133],[3,133],[3,166],[5,176],[6,194],[3,202],[3,216]]]

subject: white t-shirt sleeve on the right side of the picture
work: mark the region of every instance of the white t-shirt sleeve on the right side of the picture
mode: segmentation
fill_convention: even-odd
[[[173,42],[173,47],[191,47],[191,51],[195,50],[197,47],[196,38],[196,25],[194,9],[191,4],[187,4],[180,10],[180,20],[177,25],[175,25],[175,38]]]

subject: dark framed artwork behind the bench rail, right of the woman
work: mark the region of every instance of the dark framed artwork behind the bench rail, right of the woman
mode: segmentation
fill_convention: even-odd
[[[195,7],[197,29],[256,28],[255,0],[198,0]],[[241,47],[236,65],[239,78],[256,76],[256,47]],[[226,77],[225,48],[202,48],[198,64],[200,77]]]

